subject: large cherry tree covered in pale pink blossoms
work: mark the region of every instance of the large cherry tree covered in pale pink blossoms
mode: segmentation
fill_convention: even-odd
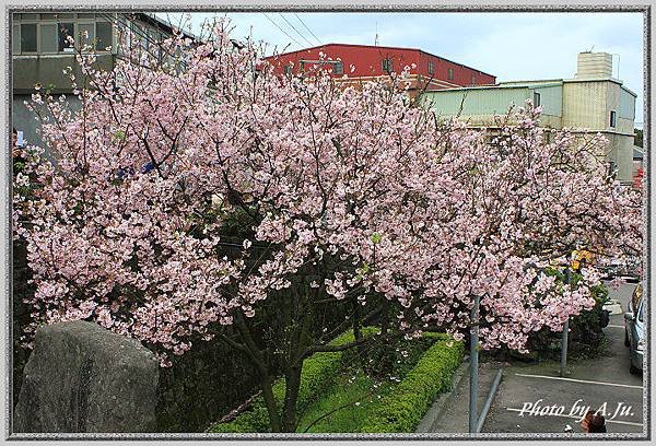
[[[225,23],[162,51],[104,72],[80,50],[79,110],[33,96],[50,155],[30,148],[14,180],[31,190],[14,196],[36,287],[27,344],[74,319],[139,339],[162,366],[198,338],[226,342],[258,371],[271,430],[293,432],[303,361],[372,342],[364,324],[377,340],[462,338],[479,296],[482,347],[523,350],[594,304],[594,266],[563,286],[552,259],[642,249],[640,191],[607,176],[604,141],[547,141],[539,108],[475,131],[410,101],[405,72],[359,89],[274,75]],[[274,347],[256,336],[273,325]],[[349,328],[354,342],[328,343]]]

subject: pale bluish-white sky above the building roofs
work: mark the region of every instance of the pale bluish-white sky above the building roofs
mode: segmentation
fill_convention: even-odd
[[[378,45],[421,48],[496,75],[497,81],[574,78],[577,52],[593,49],[614,54],[613,77],[619,74],[637,94],[635,121],[642,128],[641,13],[216,12],[191,14],[192,31],[198,33],[200,24],[213,15],[227,15],[235,26],[235,38],[251,34],[269,44],[269,52],[319,42],[374,45],[377,32]],[[179,22],[176,14],[162,16]]]

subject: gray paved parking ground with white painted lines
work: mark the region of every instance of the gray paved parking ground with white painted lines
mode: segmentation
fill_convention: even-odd
[[[622,308],[635,285],[611,290]],[[624,347],[623,315],[612,315],[605,329],[609,349],[604,356],[571,362],[565,379],[558,362],[537,365],[503,364],[504,377],[494,399],[483,433],[563,433],[572,426],[579,433],[578,419],[587,411],[604,410],[610,433],[643,432],[643,383],[629,373],[629,351]],[[482,364],[481,392],[489,388],[499,364]],[[479,410],[483,398],[479,398]],[[468,374],[456,387],[448,403],[432,425],[432,432],[465,433],[468,429]]]

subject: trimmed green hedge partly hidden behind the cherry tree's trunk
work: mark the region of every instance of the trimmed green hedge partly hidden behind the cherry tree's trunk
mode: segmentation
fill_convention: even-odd
[[[365,337],[377,332],[376,327],[366,327],[362,330]],[[349,330],[335,338],[330,344],[341,345],[353,342],[354,339],[353,331]],[[316,395],[335,383],[342,365],[343,354],[344,352],[318,352],[305,360],[301,372],[301,387],[298,388],[298,412],[306,409]],[[282,408],[284,402],[284,378],[280,378],[273,384],[273,397],[279,408]],[[210,427],[210,432],[219,433],[270,432],[270,430],[269,413],[261,395],[253,400],[249,410],[241,413],[233,421],[214,424]]]

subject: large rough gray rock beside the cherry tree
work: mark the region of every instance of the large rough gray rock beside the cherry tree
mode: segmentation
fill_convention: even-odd
[[[138,341],[96,324],[42,327],[13,432],[154,432],[159,366]]]

